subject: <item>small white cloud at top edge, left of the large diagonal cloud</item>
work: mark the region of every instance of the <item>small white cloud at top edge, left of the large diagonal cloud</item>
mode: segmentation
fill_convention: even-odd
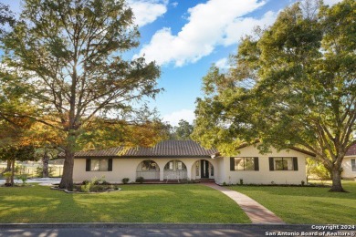
[[[166,0],[131,0],[129,5],[135,16],[135,23],[145,26],[167,12]]]

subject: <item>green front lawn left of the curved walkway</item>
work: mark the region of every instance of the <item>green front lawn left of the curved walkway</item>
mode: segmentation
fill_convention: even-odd
[[[0,222],[250,222],[235,201],[202,185],[120,187],[99,194],[0,188]]]

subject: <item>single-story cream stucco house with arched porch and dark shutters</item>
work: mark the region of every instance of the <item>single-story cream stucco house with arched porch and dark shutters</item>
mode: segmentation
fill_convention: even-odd
[[[235,157],[221,157],[216,149],[204,149],[193,140],[166,140],[152,148],[122,148],[77,152],[73,180],[94,177],[120,183],[144,180],[214,180],[236,184],[240,180],[256,184],[300,184],[306,181],[306,158],[312,153],[301,149],[272,149],[259,153],[256,146],[238,149]]]

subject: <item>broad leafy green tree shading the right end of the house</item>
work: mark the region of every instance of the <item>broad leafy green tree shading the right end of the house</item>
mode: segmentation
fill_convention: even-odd
[[[330,170],[330,191],[343,191],[341,163],[356,144],[356,2],[311,3],[246,36],[228,72],[212,67],[194,139],[225,153],[257,140],[262,151],[308,149]]]

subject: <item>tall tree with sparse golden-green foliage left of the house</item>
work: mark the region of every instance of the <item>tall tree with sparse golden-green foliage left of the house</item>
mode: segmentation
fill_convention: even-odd
[[[3,83],[22,88],[37,110],[2,116],[32,118],[63,134],[59,186],[71,189],[79,136],[96,118],[114,111],[125,119],[133,102],[154,97],[160,71],[125,57],[139,32],[124,0],[26,0],[20,19],[4,40],[5,64],[18,77]]]

